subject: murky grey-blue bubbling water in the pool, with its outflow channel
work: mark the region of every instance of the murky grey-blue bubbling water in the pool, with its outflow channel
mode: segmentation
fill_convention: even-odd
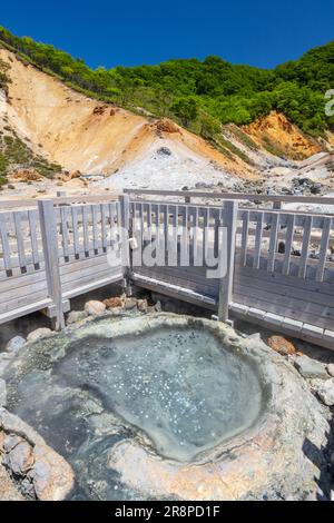
[[[90,337],[57,362],[36,357],[16,387],[11,408],[68,458],[81,496],[94,499],[136,499],[106,467],[117,442],[144,432],[155,452],[187,462],[262,408],[253,367],[204,329]]]

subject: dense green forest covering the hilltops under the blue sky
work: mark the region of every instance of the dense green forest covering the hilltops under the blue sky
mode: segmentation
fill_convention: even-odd
[[[235,66],[215,56],[92,70],[81,59],[4,28],[0,45],[77,90],[134,111],[168,116],[208,139],[222,124],[246,125],[273,109],[315,137],[334,129],[334,117],[324,110],[325,92],[334,88],[334,41],[274,70]]]

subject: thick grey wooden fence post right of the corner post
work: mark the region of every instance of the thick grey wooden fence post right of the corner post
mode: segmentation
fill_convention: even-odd
[[[238,203],[225,201],[223,217],[223,227],[226,228],[226,245],[219,246],[219,257],[224,256],[226,260],[226,273],[219,282],[218,318],[220,322],[227,322],[233,293]],[[224,248],[226,253],[223,251]]]

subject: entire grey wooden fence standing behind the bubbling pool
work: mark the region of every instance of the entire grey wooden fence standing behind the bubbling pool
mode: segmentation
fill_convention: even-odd
[[[0,324],[43,309],[62,328],[70,298],[127,280],[223,320],[234,316],[334,348],[333,215],[283,208],[297,200],[334,209],[333,198],[128,193],[18,209],[0,203]],[[259,199],[274,208],[238,205]],[[143,263],[147,248],[154,264]],[[226,273],[208,277],[223,257]]]

